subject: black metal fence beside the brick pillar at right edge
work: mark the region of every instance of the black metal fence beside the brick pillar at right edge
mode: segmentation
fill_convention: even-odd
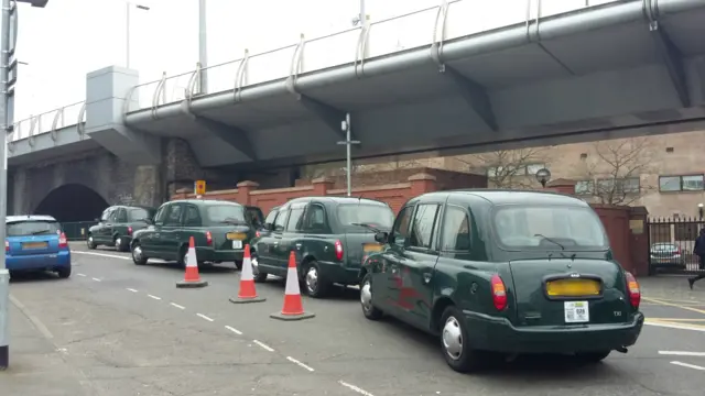
[[[696,218],[654,218],[647,222],[649,235],[649,272],[695,273],[705,271],[693,253],[695,239],[705,222]]]

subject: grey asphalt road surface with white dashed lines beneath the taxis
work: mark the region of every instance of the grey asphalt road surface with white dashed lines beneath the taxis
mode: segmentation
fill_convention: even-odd
[[[232,265],[202,268],[209,286],[177,289],[183,271],[135,266],[128,253],[72,244],[69,279],[11,284],[4,395],[692,395],[705,389],[705,280],[640,279],[648,317],[629,353],[578,366],[524,358],[478,374],[447,367],[437,341],[394,319],[371,322],[358,290],[304,297],[314,319],[281,322],[284,285],[234,305]]]

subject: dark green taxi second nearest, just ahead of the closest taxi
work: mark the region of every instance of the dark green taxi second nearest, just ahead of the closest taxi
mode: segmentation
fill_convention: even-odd
[[[268,216],[267,232],[252,241],[254,282],[285,277],[293,251],[310,296],[324,297],[334,284],[358,285],[367,252],[380,246],[376,231],[391,230],[393,220],[391,208],[372,199],[292,199]]]

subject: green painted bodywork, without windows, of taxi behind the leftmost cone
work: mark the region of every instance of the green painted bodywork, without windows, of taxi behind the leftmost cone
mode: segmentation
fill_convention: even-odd
[[[182,213],[186,212],[186,207],[195,208],[200,219],[206,218],[205,211],[208,207],[232,206],[235,208],[242,208],[242,210],[246,211],[259,212],[258,217],[261,221],[261,210],[259,208],[242,207],[239,204],[229,201],[205,199],[184,199],[166,202],[156,210],[156,217],[159,217],[161,211],[167,210],[169,207],[175,205],[184,207]],[[154,220],[156,220],[156,217]],[[246,219],[247,218],[246,216]],[[185,224],[184,215],[182,215],[180,222],[176,224],[155,222],[134,232],[131,246],[139,243],[145,257],[178,261],[183,257],[185,250],[188,248],[189,239],[193,237],[198,263],[240,263],[245,253],[245,245],[250,243],[250,240],[254,238],[256,227],[257,226],[252,224],[249,220],[242,224],[204,224],[203,220],[200,220],[198,224],[188,226]],[[208,231],[213,238],[212,245],[207,243],[206,232]],[[232,242],[226,238],[226,234],[229,232],[245,233],[247,235],[247,238],[242,240],[242,248],[232,248]]]

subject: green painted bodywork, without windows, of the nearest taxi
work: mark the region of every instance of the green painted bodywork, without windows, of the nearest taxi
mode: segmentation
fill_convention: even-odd
[[[395,243],[392,233],[392,243],[388,241],[383,252],[370,255],[360,275],[371,274],[372,305],[378,309],[438,334],[441,315],[453,305],[464,315],[473,348],[496,352],[610,351],[637,341],[644,317],[629,302],[625,271],[614,261],[608,243],[592,251],[571,251],[570,246],[509,251],[498,242],[492,213],[500,206],[589,208],[584,201],[550,193],[462,190],[422,195],[404,208],[413,211],[420,204],[441,206],[436,231],[442,230],[441,219],[448,206],[465,209],[471,219],[471,249],[441,251],[438,232],[434,232],[431,248],[419,250]],[[507,289],[508,307],[501,311],[492,302],[490,278],[495,274]],[[601,296],[550,299],[544,280],[551,276],[597,277],[603,283]],[[565,300],[587,300],[589,322],[566,323]]]

